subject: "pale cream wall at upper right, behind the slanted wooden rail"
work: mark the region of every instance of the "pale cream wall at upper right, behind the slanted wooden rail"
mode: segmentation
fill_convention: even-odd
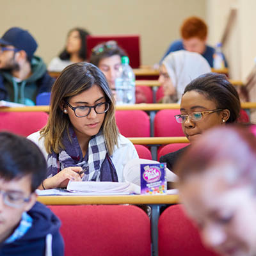
[[[246,82],[246,77],[255,65],[256,57],[256,1],[207,0],[206,6],[207,22],[211,27],[209,42],[212,44],[220,40],[230,8],[236,8],[237,17],[223,51],[230,65],[230,77]],[[250,91],[250,101],[256,102],[256,84]],[[256,109],[252,110],[251,117],[252,122],[256,122]]]

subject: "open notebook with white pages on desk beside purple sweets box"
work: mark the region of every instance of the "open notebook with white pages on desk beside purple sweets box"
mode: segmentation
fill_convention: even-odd
[[[124,167],[124,182],[70,181],[67,190],[46,189],[38,195],[128,195],[140,194],[140,164],[159,163],[148,159],[132,159]],[[177,175],[166,168],[166,180],[176,181]],[[172,191],[175,193],[175,191]]]

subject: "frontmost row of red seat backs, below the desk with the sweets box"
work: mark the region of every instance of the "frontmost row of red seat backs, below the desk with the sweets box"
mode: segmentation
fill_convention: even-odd
[[[150,256],[150,220],[134,205],[50,205],[60,218],[65,255]],[[216,256],[201,243],[181,205],[168,207],[158,222],[159,256]]]

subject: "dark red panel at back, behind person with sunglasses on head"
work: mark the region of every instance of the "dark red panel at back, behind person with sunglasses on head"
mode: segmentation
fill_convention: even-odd
[[[93,47],[109,40],[115,40],[127,53],[130,66],[132,68],[140,67],[140,35],[90,35],[86,36],[86,40],[87,56],[89,60]]]

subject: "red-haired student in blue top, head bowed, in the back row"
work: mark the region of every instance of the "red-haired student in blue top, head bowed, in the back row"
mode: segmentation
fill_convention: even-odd
[[[207,25],[204,20],[198,17],[189,17],[184,20],[180,28],[180,35],[182,40],[172,42],[161,61],[163,61],[170,52],[186,50],[198,52],[208,61],[209,65],[213,67],[213,54],[215,49],[206,44]],[[225,61],[225,66],[227,67],[227,61]]]

